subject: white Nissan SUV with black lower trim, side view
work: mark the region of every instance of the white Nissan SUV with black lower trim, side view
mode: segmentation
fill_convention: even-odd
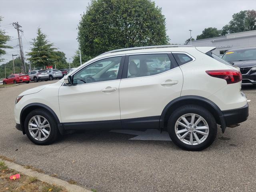
[[[106,52],[54,84],[20,94],[16,128],[39,145],[67,130],[160,129],[179,147],[202,150],[214,141],[217,124],[224,132],[248,117],[239,68],[212,54],[214,49],[178,45]],[[89,68],[98,70],[88,73]]]

